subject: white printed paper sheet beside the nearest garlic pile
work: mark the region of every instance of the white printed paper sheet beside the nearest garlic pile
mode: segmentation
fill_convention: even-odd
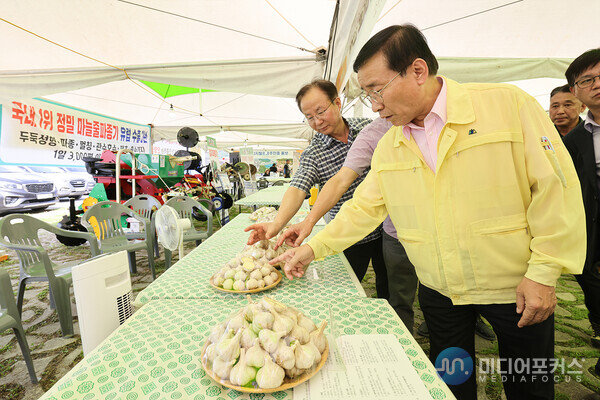
[[[321,371],[294,388],[294,400],[431,399],[394,335],[346,335],[335,344]]]

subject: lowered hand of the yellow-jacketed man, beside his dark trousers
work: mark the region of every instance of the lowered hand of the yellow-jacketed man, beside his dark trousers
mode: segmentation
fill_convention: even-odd
[[[517,286],[517,314],[523,314],[519,328],[545,321],[556,307],[554,287],[523,278]]]

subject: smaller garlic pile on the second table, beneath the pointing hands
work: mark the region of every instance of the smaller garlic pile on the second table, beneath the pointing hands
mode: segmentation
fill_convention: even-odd
[[[279,279],[275,267],[267,259],[247,254],[237,255],[217,272],[212,282],[226,290],[252,290],[270,286]]]

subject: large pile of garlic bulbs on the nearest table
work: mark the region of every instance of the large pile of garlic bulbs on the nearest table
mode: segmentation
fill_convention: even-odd
[[[323,331],[293,307],[264,297],[215,326],[203,363],[236,386],[273,389],[321,361],[327,347]]]

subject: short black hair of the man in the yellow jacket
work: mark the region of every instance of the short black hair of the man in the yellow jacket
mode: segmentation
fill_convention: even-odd
[[[437,74],[438,62],[423,33],[414,25],[392,25],[379,31],[358,52],[354,61],[354,72],[369,61],[375,54],[383,52],[392,71],[406,73],[406,69],[417,58],[422,58],[427,63],[429,73]]]

